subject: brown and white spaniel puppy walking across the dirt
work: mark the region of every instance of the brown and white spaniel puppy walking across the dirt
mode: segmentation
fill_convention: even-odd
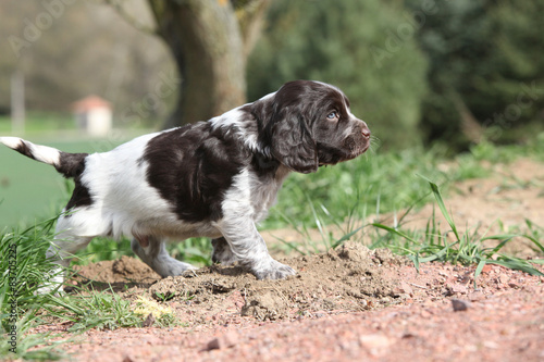
[[[60,265],[94,237],[124,235],[161,276],[181,275],[194,267],[170,257],[165,241],[205,236],[213,239],[213,261],[237,261],[259,279],[280,279],[295,271],[270,257],[256,224],[292,171],[358,157],[370,130],[338,88],[295,80],[208,122],[104,153],[66,153],[16,137],[0,142],[74,178],[47,252]]]

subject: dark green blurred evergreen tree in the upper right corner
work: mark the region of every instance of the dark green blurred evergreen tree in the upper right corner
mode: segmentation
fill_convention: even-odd
[[[420,0],[408,0],[416,11]],[[418,33],[430,68],[424,99],[425,139],[456,149],[520,140],[543,130],[544,2],[456,0],[436,2]],[[536,130],[535,130],[536,132]]]

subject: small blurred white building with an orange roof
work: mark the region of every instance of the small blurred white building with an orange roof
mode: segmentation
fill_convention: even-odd
[[[111,130],[112,109],[107,100],[89,96],[74,102],[72,109],[77,128],[86,132],[89,136],[103,137]]]

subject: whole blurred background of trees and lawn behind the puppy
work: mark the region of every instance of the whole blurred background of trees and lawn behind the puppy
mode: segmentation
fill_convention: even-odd
[[[0,12],[0,134],[64,151],[208,120],[298,78],[341,87],[375,152],[543,139],[542,0],[4,0]],[[11,152],[0,227],[70,188]]]

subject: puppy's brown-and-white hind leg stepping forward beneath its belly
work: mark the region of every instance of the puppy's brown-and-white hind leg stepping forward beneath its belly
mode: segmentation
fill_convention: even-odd
[[[162,277],[182,275],[186,271],[196,270],[189,263],[181,262],[166,251],[163,240],[152,236],[137,236],[132,242],[133,251]]]

